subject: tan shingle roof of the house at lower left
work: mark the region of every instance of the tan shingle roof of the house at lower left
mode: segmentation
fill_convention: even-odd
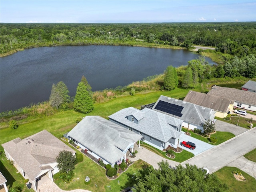
[[[75,153],[72,148],[46,130],[23,140],[16,138],[2,146],[32,180],[36,179],[41,172],[43,164],[56,162],[56,157],[61,150]],[[47,169],[52,168],[47,166]]]

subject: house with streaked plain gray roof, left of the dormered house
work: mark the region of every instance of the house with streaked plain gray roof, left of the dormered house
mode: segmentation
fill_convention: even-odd
[[[142,136],[100,116],[86,116],[66,134],[66,138],[113,167],[126,160],[126,152],[129,149],[133,152],[134,143]]]

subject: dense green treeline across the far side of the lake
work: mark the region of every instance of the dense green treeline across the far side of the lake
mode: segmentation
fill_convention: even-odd
[[[57,45],[214,46],[239,58],[256,54],[256,22],[138,24],[10,24],[1,23],[0,53]],[[137,39],[137,41],[136,41]],[[138,41],[144,40],[144,41]]]

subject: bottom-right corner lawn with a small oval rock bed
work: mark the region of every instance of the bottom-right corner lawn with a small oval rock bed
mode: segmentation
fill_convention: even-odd
[[[238,181],[234,178],[232,171],[239,171],[242,175],[246,178],[246,181]],[[256,180],[254,177],[248,175],[247,173],[243,172],[242,170],[236,167],[224,167],[215,174],[222,180],[222,182],[226,183],[229,187],[229,192],[255,192],[256,189]]]

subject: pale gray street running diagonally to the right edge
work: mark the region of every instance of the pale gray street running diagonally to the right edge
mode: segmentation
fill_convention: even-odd
[[[185,163],[206,167],[210,172],[215,172],[256,148],[256,127],[252,128],[206,152],[195,156]],[[255,163],[254,163],[255,166]]]

